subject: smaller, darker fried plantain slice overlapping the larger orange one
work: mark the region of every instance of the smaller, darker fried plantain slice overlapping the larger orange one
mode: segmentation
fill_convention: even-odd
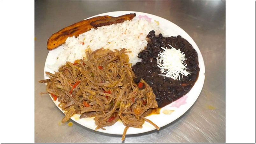
[[[133,17],[135,17],[136,14],[126,14],[126,15],[122,15],[122,16],[118,16],[118,17],[111,17],[111,18],[107,18],[107,19],[102,19],[102,20],[96,20],[94,22],[91,22],[90,24],[93,27],[102,27],[105,25],[110,25],[113,23],[123,23],[126,20],[131,20],[133,19]]]

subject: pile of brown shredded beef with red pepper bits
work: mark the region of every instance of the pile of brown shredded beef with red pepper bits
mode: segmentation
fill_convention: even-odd
[[[159,129],[143,116],[158,105],[152,88],[143,79],[143,89],[133,82],[135,75],[126,49],[87,49],[86,58],[67,62],[55,74],[46,72],[50,79],[39,81],[47,83],[46,91],[56,95],[59,107],[67,111],[62,122],[73,114],[81,114],[80,118],[95,116],[97,130],[121,119],[126,126],[122,140],[129,127],[142,128],[145,121]]]

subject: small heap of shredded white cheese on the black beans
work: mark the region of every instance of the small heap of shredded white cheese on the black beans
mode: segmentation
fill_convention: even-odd
[[[164,49],[163,52],[158,54],[157,59],[157,66],[160,68],[160,72],[162,76],[166,76],[168,78],[172,78],[174,80],[181,81],[180,75],[187,76],[190,75],[190,72],[186,71],[187,64],[185,63],[185,54],[180,51],[180,49],[175,49],[171,45],[169,45],[172,49]]]

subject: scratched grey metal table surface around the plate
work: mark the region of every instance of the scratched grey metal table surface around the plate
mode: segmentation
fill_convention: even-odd
[[[204,86],[194,105],[172,123],[124,142],[225,142],[225,1],[35,1],[35,142],[122,142],[122,135],[100,133],[73,121],[50,97],[45,85],[48,38],[87,17],[111,11],[139,11],[163,17],[196,42],[205,63]],[[70,120],[72,121],[72,120]]]

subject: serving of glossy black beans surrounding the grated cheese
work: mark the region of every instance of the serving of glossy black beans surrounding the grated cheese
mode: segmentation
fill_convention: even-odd
[[[198,55],[192,45],[181,36],[162,37],[162,34],[155,36],[153,32],[148,36],[151,39],[146,49],[138,54],[138,57],[142,58],[142,62],[136,63],[132,70],[137,78],[142,78],[152,87],[153,93],[156,95],[157,104],[161,107],[177,100],[191,90],[194,85],[193,81],[196,80],[200,70],[198,67]],[[160,68],[157,66],[156,58],[159,52],[163,51],[160,47],[172,49],[169,45],[175,49],[181,49],[185,57],[188,58],[186,60],[186,67],[187,71],[191,73],[188,76],[183,76],[183,78],[181,76],[181,81],[175,81],[159,75]],[[135,82],[136,78],[134,79]],[[181,86],[181,83],[187,83],[188,85]]]

